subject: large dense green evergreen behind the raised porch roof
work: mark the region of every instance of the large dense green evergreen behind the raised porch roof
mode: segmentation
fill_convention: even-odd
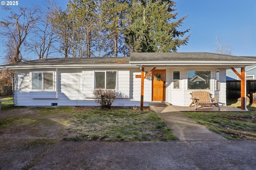
[[[124,29],[130,52],[175,52],[186,45],[189,36],[181,39],[190,29],[178,31],[187,16],[174,21],[176,2],[171,0],[135,0],[131,4],[129,24]]]

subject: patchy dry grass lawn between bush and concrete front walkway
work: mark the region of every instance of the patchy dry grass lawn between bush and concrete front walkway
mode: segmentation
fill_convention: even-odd
[[[65,140],[166,141],[177,139],[154,112],[76,107]]]

